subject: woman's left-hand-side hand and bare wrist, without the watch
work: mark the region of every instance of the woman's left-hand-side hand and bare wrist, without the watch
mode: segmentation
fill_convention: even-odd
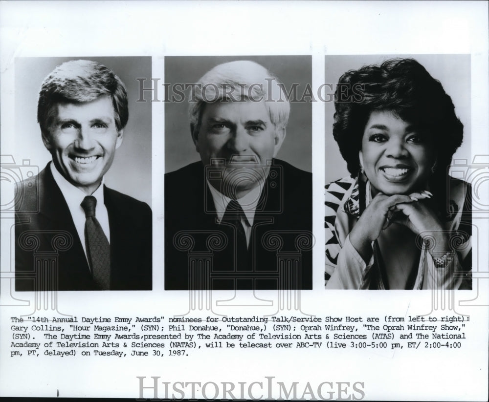
[[[412,197],[378,193],[370,202],[350,232],[350,242],[365,262],[369,261],[372,254],[371,243],[378,238],[383,229],[389,226],[395,207],[399,204],[413,203],[419,199],[416,195],[422,197],[421,193],[411,194]]]

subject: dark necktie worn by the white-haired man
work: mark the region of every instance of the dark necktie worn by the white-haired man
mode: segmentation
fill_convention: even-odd
[[[249,270],[248,246],[246,244],[246,233],[244,232],[242,219],[246,219],[241,205],[236,200],[231,200],[227,204],[226,211],[222,216],[222,222],[234,227],[234,236],[229,239],[230,244],[234,244],[236,255],[236,270]]]

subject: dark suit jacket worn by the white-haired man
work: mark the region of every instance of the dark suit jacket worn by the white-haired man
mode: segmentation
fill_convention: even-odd
[[[196,162],[165,175],[165,289],[312,289],[312,174],[273,160],[245,270],[205,174]]]

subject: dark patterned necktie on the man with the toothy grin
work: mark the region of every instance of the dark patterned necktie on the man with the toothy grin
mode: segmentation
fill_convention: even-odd
[[[85,211],[85,245],[93,280],[102,290],[111,285],[111,246],[95,217],[97,199],[87,195],[80,204]]]

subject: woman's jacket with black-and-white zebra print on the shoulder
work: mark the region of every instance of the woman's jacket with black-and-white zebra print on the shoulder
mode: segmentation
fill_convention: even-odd
[[[454,253],[446,267],[435,267],[423,243],[414,289],[471,289],[471,188],[449,177],[449,208],[444,229],[450,231]],[[328,289],[387,289],[372,243],[372,257],[365,262],[350,242],[349,233],[365,210],[365,184],[346,177],[325,186],[326,261]]]

